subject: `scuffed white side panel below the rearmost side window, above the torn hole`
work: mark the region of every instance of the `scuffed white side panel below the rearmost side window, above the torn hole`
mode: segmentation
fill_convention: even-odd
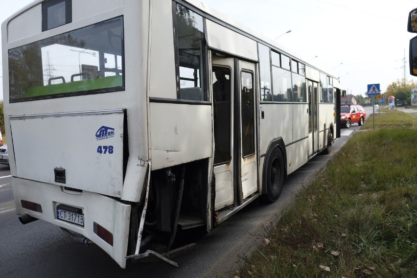
[[[211,106],[150,103],[152,170],[211,156]]]

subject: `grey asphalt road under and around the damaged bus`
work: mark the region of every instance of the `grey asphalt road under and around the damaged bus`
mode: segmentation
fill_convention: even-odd
[[[330,155],[319,155],[292,173],[276,203],[255,201],[196,241],[195,250],[174,259],[178,268],[156,262],[128,264],[121,269],[100,248],[78,246],[56,226],[44,221],[22,225],[14,209],[9,168],[0,165],[0,275],[209,278],[229,272],[230,277],[242,256],[261,243],[266,229],[292,204],[297,192],[315,178],[358,128],[355,123],[350,129],[342,129],[342,137],[335,142]]]

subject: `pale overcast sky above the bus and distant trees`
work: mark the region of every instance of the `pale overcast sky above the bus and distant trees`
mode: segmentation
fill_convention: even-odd
[[[0,22],[30,2],[0,0]],[[384,93],[389,84],[403,79],[404,57],[405,78],[417,81],[408,68],[414,34],[407,32],[408,13],[417,8],[417,0],[202,2],[271,40],[279,37],[276,42],[291,54],[340,77],[341,89],[354,95],[364,95],[367,84],[373,83],[379,83]],[[0,86],[2,99],[2,78]]]

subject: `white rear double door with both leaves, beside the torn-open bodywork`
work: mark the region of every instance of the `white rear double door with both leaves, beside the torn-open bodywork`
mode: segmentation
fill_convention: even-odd
[[[255,65],[212,56],[214,210],[237,208],[258,191]],[[229,211],[232,212],[232,211]],[[230,213],[217,213],[217,224]]]

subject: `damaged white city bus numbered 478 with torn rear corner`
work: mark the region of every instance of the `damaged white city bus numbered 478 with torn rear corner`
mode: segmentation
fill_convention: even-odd
[[[337,137],[337,78],[196,0],[35,0],[1,34],[19,219],[122,268],[175,265]]]

